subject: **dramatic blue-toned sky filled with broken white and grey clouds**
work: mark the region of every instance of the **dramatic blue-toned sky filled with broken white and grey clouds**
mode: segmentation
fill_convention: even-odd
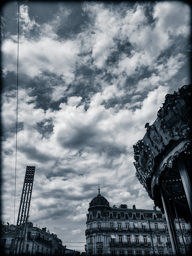
[[[14,224],[14,200],[17,221],[27,165],[36,166],[29,220],[67,248],[84,251],[98,179],[110,205],[153,209],[133,144],[165,95],[191,83],[190,22],[179,1],[20,1],[16,155],[18,2],[4,4],[2,221]]]

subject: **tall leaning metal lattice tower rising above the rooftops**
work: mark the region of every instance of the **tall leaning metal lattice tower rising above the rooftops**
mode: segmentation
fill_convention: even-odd
[[[23,254],[34,174],[35,166],[27,166],[12,250],[15,256]]]

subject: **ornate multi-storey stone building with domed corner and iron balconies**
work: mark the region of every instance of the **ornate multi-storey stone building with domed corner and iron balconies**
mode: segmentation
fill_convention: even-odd
[[[89,204],[85,251],[87,255],[173,255],[165,215],[156,210],[136,209],[126,204],[109,206],[99,194]],[[175,220],[181,252],[191,244],[190,223]],[[183,244],[181,236],[185,237]],[[184,254],[183,254],[184,255]]]

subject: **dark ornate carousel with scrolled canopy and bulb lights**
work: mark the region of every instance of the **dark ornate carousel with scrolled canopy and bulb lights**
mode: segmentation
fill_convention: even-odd
[[[165,214],[173,254],[180,256],[174,219],[192,222],[192,84],[167,94],[143,139],[133,145],[136,176]],[[180,230],[182,223],[178,222]],[[182,237],[185,254],[185,237]]]

